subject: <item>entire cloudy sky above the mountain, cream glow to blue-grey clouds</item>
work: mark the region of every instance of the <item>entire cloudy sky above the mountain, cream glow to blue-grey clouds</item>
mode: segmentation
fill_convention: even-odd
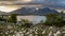
[[[65,10],[65,0],[0,0],[2,12],[12,12],[27,5]]]

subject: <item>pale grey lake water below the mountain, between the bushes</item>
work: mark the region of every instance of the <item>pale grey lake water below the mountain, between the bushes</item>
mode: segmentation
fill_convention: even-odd
[[[17,16],[17,21],[21,21],[21,19],[27,19],[32,23],[39,23],[41,20],[46,21],[44,16]]]

